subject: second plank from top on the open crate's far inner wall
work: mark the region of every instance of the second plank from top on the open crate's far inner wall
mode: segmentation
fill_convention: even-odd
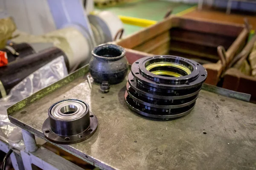
[[[236,37],[207,34],[196,31],[187,31],[180,28],[172,28],[170,30],[170,36],[172,37],[172,40],[189,42],[215,48],[217,48],[218,45],[222,45],[225,49],[228,49],[230,45],[236,40]]]

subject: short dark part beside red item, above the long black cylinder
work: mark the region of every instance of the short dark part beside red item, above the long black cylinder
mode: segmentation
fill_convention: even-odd
[[[35,53],[35,50],[28,43],[15,44],[12,42],[0,51],[6,52],[9,63]]]

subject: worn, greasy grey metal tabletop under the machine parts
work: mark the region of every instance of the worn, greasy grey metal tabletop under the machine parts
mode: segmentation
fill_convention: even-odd
[[[86,77],[79,78],[9,118],[43,136],[41,128],[52,103],[77,98],[87,102],[98,117],[98,130],[79,144],[55,145],[102,169],[256,168],[256,105],[202,90],[189,115],[152,121],[128,109],[126,82],[102,94],[99,85],[93,83],[90,90]]]

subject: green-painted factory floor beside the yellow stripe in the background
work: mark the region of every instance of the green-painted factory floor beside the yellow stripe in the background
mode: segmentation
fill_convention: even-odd
[[[172,9],[172,14],[177,14],[195,4],[174,3],[163,0],[139,0],[134,3],[123,3],[113,7],[96,8],[97,11],[111,11],[117,15],[137,17],[147,20],[163,20],[167,11]],[[133,34],[143,27],[124,24],[125,36]]]

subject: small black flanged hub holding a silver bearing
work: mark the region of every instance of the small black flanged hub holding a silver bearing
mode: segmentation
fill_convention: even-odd
[[[82,142],[90,138],[98,126],[89,105],[78,99],[56,102],[49,108],[48,116],[42,130],[46,139],[57,144]]]

